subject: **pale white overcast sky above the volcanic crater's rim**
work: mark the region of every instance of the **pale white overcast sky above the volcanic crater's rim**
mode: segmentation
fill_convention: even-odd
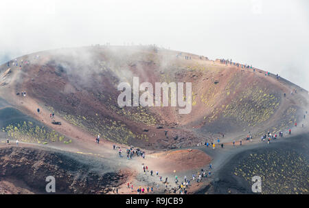
[[[45,49],[156,44],[231,58],[309,90],[308,0],[0,1],[0,62]]]

